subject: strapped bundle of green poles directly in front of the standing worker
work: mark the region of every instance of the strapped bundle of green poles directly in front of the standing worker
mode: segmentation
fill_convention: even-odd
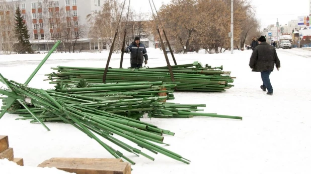
[[[47,74],[51,84],[72,85],[77,84],[81,79],[89,83],[102,83],[104,68],[64,67],[52,68],[57,73]],[[222,71],[221,67],[211,67],[198,62],[186,65],[172,66],[175,82],[172,82],[167,67],[140,68],[140,69],[108,69],[106,82],[155,82],[177,84],[174,90],[177,91],[206,91],[221,92],[234,85],[234,77],[230,72]],[[55,80],[55,81],[54,81]],[[176,83],[178,82],[178,83]]]

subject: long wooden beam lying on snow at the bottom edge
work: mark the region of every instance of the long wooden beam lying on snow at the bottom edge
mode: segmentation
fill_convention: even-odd
[[[131,167],[122,159],[105,158],[51,158],[38,167],[56,167],[76,174],[130,174]]]

